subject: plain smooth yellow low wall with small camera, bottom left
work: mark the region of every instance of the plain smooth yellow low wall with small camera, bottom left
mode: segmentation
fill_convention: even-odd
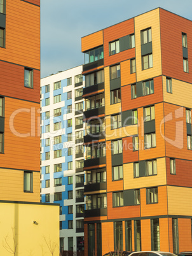
[[[0,219],[1,255],[10,255],[6,245],[14,250],[13,239],[16,255],[51,255],[48,245],[55,246],[54,256],[59,255],[59,206],[0,203]]]

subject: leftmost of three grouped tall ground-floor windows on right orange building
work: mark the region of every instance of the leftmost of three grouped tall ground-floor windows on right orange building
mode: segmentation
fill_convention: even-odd
[[[114,222],[114,250],[123,250],[123,225],[122,222]]]

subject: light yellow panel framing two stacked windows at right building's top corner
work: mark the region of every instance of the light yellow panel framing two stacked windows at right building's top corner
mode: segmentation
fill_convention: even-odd
[[[139,15],[134,18],[135,22],[135,54],[137,82],[161,75],[161,41],[160,41],[160,11],[159,8]],[[141,62],[141,30],[151,27],[152,48],[153,48],[153,68],[142,70]]]

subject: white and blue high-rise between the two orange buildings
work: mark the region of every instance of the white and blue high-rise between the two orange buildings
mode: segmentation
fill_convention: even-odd
[[[82,66],[41,79],[41,201],[60,204],[60,250],[84,250]]]

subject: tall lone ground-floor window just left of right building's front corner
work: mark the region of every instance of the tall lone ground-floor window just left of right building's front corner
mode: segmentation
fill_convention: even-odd
[[[151,219],[151,250],[160,251],[160,224],[158,218]]]

